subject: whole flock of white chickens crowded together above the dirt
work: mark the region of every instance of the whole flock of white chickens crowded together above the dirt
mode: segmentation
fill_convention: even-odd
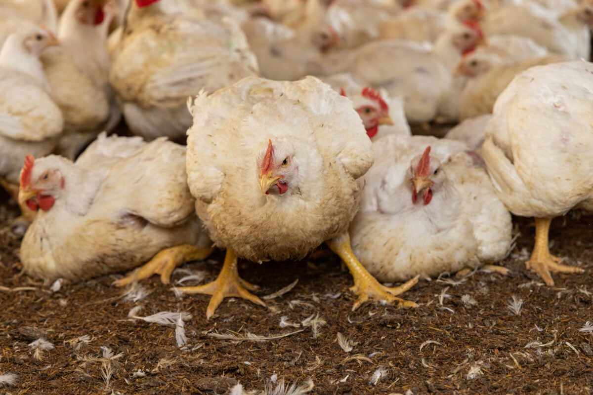
[[[504,273],[513,213],[535,218],[529,269],[582,272],[548,231],[593,210],[589,27],[589,0],[0,0],[24,271],[166,284],[218,246],[218,278],[181,288],[211,317],[265,306],[237,259],[326,243],[353,309],[413,307],[420,277]],[[122,116],[136,136],[108,136]],[[429,122],[458,126],[411,135]]]

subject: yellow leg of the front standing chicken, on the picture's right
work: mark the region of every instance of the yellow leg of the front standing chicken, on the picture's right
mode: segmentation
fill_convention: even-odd
[[[361,262],[358,261],[352,247],[350,246],[350,236],[348,233],[343,233],[334,239],[327,240],[327,245],[331,251],[335,252],[342,261],[348,266],[350,274],[354,279],[354,285],[350,287],[350,291],[358,295],[358,300],[355,301],[352,306],[352,311],[358,309],[361,304],[365,303],[369,298],[377,300],[388,301],[390,303],[397,302],[399,307],[417,307],[418,305],[413,301],[404,300],[396,297],[399,294],[403,294],[410,288],[412,288],[417,282],[420,276],[412,278],[401,284],[399,287],[389,288],[379,284],[379,282],[372,277],[372,275],[362,266]]]

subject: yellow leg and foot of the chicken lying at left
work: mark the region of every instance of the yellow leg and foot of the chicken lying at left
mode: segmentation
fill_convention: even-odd
[[[128,275],[113,282],[117,287],[131,284],[149,278],[154,274],[161,275],[163,284],[169,284],[171,281],[171,273],[177,266],[183,265],[189,261],[202,261],[208,258],[214,248],[200,248],[189,244],[165,248],[152,257],[150,261],[144,264],[141,268]]]

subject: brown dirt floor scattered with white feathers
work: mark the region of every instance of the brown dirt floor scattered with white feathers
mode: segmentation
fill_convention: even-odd
[[[15,208],[0,194],[0,375],[16,375],[0,393],[222,394],[240,383],[259,394],[282,380],[314,394],[593,392],[592,217],[553,221],[553,253],[587,271],[554,275],[554,287],[525,270],[534,228],[515,219],[517,246],[503,262],[509,277],[478,271],[420,281],[404,294],[417,309],[366,303],[351,311],[352,278],[321,252],[302,262],[241,265],[262,296],[298,282],[267,300],[268,309],[227,299],[207,321],[208,296],[177,297],[157,277],[142,282],[142,298],[112,287],[118,275],[53,290],[20,276]],[[212,280],[223,256],[184,265],[174,281]],[[130,319],[136,306],[140,317],[192,314],[184,320],[187,344],[177,346],[174,325]],[[33,343],[39,338],[50,344]]]

